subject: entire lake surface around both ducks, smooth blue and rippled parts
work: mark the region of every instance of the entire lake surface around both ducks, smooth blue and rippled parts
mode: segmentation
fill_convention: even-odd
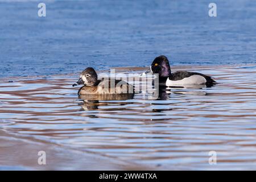
[[[203,0],[45,2],[39,18],[39,1],[0,0],[0,169],[256,169],[255,1],[214,1],[216,18]],[[158,55],[219,84],[72,88],[86,67],[141,73]]]

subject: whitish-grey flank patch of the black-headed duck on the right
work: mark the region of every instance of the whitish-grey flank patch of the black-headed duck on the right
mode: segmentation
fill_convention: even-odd
[[[167,78],[166,81],[166,86],[171,86],[171,85],[201,85],[205,84],[207,80],[200,75],[192,75],[187,78],[183,78],[182,80],[176,80],[172,81]]]

